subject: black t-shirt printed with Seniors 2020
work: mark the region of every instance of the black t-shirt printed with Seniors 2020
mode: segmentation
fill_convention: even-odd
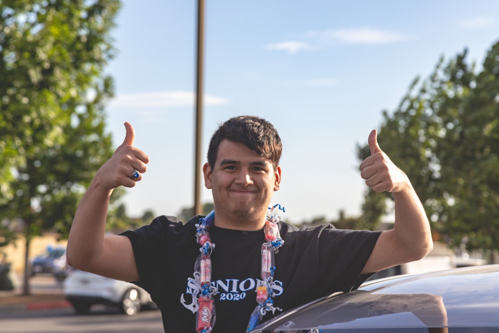
[[[187,224],[160,216],[150,225],[124,232],[133,247],[140,281],[160,309],[165,332],[195,333],[195,304],[199,286],[194,264],[200,254],[196,242],[199,216]],[[275,254],[274,306],[283,311],[333,292],[357,288],[379,232],[338,230],[330,224],[296,228],[279,222],[284,245]],[[212,286],[216,322],[213,333],[246,332],[256,307],[263,230],[239,231],[212,226],[215,249]],[[277,315],[279,312],[276,312]],[[267,320],[272,314],[267,314]]]

